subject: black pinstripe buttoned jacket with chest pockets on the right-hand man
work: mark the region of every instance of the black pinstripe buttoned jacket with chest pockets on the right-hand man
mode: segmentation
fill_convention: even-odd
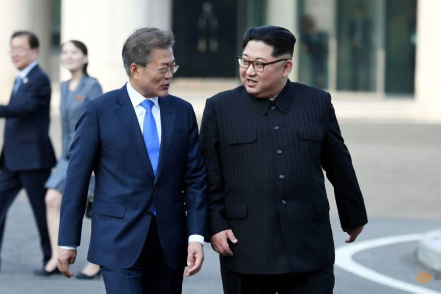
[[[312,271],[334,263],[322,168],[334,185],[343,228],[367,223],[330,95],[287,82],[270,101],[245,88],[206,102],[200,138],[207,166],[211,234],[239,240],[221,265],[241,273]]]

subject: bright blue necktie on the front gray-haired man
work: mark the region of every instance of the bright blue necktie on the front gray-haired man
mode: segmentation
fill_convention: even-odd
[[[159,161],[159,137],[156,129],[156,122],[151,108],[153,107],[152,100],[144,100],[141,106],[146,109],[146,116],[144,117],[143,137],[146,144],[148,158],[150,158],[153,174],[156,175],[156,169]],[[153,214],[156,215],[156,209],[153,207]]]

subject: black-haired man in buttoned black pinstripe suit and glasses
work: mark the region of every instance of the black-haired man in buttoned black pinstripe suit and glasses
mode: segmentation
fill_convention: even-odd
[[[332,293],[334,243],[322,168],[352,242],[363,196],[328,93],[291,82],[295,38],[252,27],[242,86],[209,98],[201,124],[211,244],[224,292]]]

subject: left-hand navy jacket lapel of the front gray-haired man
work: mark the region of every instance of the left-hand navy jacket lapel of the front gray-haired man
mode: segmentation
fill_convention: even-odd
[[[114,110],[117,117],[120,119],[125,132],[127,133],[130,142],[138,153],[141,162],[146,167],[148,174],[154,179],[153,169],[151,168],[150,159],[148,158],[146,144],[144,143],[143,134],[139,128],[138,119],[136,118],[135,109],[133,108],[130,98],[127,93],[127,88],[124,85],[120,89],[120,93],[115,99]]]

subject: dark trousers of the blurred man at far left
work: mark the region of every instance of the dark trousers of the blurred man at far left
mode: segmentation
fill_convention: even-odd
[[[50,170],[12,172],[4,166],[0,171],[0,249],[3,243],[3,231],[8,209],[20,190],[25,188],[40,233],[43,266],[46,265],[52,254],[45,203],[45,183],[49,175]]]

